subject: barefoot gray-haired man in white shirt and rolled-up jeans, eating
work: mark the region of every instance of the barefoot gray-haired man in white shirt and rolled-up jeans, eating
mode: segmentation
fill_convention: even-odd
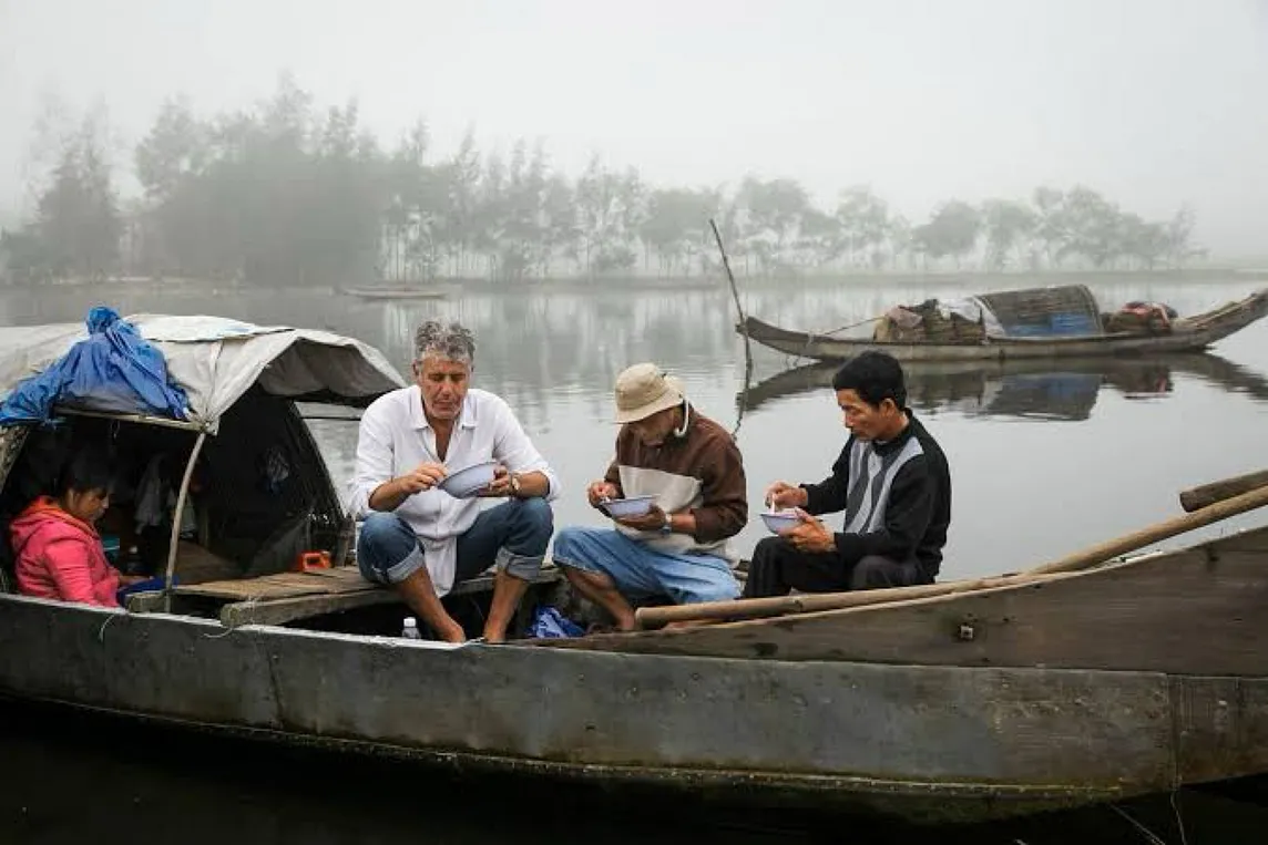
[[[365,519],[356,543],[361,574],[396,589],[448,642],[467,636],[440,599],[496,564],[483,633],[502,642],[550,542],[548,502],[559,495],[559,479],[510,405],[470,388],[474,355],[472,333],[458,323],[418,327],[415,384],[379,397],[361,416],[351,509]],[[448,475],[482,461],[497,462],[487,486],[470,495],[443,488]],[[482,508],[489,497],[506,502]]]

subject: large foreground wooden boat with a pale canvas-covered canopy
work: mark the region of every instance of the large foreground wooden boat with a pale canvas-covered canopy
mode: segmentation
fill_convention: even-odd
[[[82,432],[186,456],[160,559],[179,583],[128,609],[0,594],[0,694],[467,772],[922,821],[1268,772],[1268,530],[973,592],[696,630],[407,641],[393,594],[341,565],[341,513],[294,410],[363,404],[399,375],[350,338],[242,324],[228,338],[181,319],[134,322],[186,389],[190,419],[66,409]],[[0,329],[4,384],[79,336]],[[279,489],[257,475],[273,443],[290,455]],[[33,461],[56,445],[44,429],[0,429],[0,512],[25,499]],[[200,516],[191,537],[179,531],[186,502]],[[278,530],[290,523],[299,528]],[[292,535],[332,551],[335,566],[252,578],[269,560],[288,568],[278,550]],[[456,613],[478,590],[445,602]],[[881,593],[869,597],[894,598]],[[569,600],[549,570],[533,595]],[[794,600],[814,598],[831,597]]]

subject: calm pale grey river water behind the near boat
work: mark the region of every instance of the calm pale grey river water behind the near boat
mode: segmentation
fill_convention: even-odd
[[[1008,281],[1033,286],[1031,280]],[[746,310],[763,318],[827,331],[895,302],[987,286],[980,279],[961,283],[746,280],[741,294]],[[1239,299],[1253,288],[1231,277],[1155,283],[1132,276],[1089,284],[1102,303],[1150,299],[1182,314]],[[420,322],[460,321],[476,334],[473,384],[506,398],[559,471],[564,495],[557,502],[555,522],[560,526],[601,522],[579,490],[611,457],[612,379],[637,361],[657,361],[680,375],[701,413],[737,431],[751,502],[760,502],[776,479],[822,479],[843,442],[831,393],[815,391],[828,384],[831,367],[794,370],[800,361],[754,347],[758,375],[748,399],[737,402],[746,383],[744,346],[725,284],[476,285],[422,302],[122,285],[58,289],[39,298],[0,291],[0,315],[13,323],[82,321],[103,300],[124,314],[202,313],[327,328],[379,347],[402,372],[408,372]],[[1219,356],[1061,361],[1033,370],[1013,364],[971,366],[912,371],[914,407],[952,462],[956,505],[947,576],[1012,571],[1101,542],[1170,516],[1178,489],[1259,467],[1268,321],[1222,341]],[[784,370],[792,372],[776,375]],[[1198,442],[1211,428],[1203,421],[1216,408],[1220,448],[1175,448]],[[1028,422],[1011,424],[1021,421]],[[342,489],[353,466],[356,426],[317,423],[314,429]],[[1058,432],[1060,437],[1052,437]],[[1121,456],[1139,452],[1153,457],[1132,462],[1129,471]],[[1070,490],[1083,493],[1071,499]],[[1241,523],[1255,518],[1250,514]],[[761,522],[752,522],[737,537],[737,551],[749,554],[763,536]]]

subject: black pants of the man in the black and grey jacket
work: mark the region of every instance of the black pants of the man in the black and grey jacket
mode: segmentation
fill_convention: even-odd
[[[869,555],[847,564],[839,555],[798,551],[782,537],[758,541],[748,564],[744,598],[801,593],[836,593],[881,587],[931,584],[932,579],[914,560],[896,561]]]

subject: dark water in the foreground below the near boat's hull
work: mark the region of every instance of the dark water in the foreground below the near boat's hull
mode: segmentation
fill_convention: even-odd
[[[0,702],[4,842],[132,845],[1136,845],[1259,841],[1265,785],[1252,779],[989,825],[893,820],[724,803],[678,793],[429,768],[222,737],[72,709]],[[648,812],[654,806],[656,812]],[[493,811],[497,807],[498,811]],[[492,811],[492,812],[491,812]],[[1129,820],[1130,817],[1130,820]],[[1177,818],[1182,820],[1182,836]],[[109,834],[108,831],[115,831]]]

